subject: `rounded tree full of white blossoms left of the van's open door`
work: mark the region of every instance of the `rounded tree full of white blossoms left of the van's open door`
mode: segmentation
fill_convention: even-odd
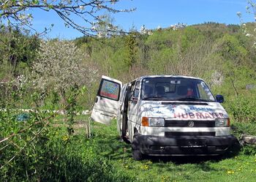
[[[97,77],[98,70],[89,64],[88,58],[73,42],[41,42],[32,67],[33,86],[43,92],[56,91],[66,104],[70,88],[89,88]]]

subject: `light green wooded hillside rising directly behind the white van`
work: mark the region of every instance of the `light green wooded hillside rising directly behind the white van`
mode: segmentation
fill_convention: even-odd
[[[247,23],[248,29],[252,26]],[[202,77],[214,94],[226,97],[228,108],[232,105],[240,108],[238,103],[248,103],[247,99],[254,105],[255,91],[246,90],[246,85],[254,85],[256,77],[254,42],[242,32],[237,25],[204,23],[184,29],[153,30],[149,35],[131,31],[124,37],[100,41],[80,37],[75,43],[89,55],[99,69],[99,76],[108,75],[124,83],[140,75]],[[248,115],[239,119],[244,120]]]

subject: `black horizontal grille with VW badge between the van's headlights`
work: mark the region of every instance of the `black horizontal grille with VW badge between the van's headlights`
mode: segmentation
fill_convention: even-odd
[[[191,126],[191,122],[193,122],[193,126]],[[165,120],[165,127],[215,127],[215,121]]]

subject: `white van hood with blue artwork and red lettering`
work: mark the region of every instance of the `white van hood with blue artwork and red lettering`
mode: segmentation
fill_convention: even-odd
[[[215,120],[228,118],[219,102],[152,102],[143,101],[143,116],[172,120]]]

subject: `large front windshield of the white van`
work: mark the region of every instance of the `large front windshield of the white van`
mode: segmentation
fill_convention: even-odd
[[[184,77],[144,78],[141,99],[215,102],[214,96],[203,80]]]

